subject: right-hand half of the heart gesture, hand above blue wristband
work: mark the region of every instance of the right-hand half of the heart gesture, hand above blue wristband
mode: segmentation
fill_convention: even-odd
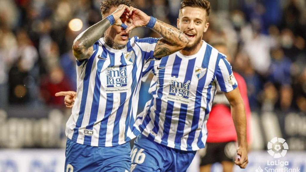
[[[142,12],[140,9],[129,7],[130,12],[127,14],[133,20],[133,24],[126,29],[126,32],[134,28],[146,26],[150,21],[150,16]]]

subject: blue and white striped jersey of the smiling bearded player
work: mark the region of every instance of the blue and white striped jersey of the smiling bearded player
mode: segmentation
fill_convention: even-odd
[[[230,92],[237,87],[225,55],[203,41],[197,54],[177,52],[148,62],[143,75],[150,71],[154,73],[149,88],[152,99],[137,115],[134,126],[170,148],[204,148],[207,118],[217,89]]]

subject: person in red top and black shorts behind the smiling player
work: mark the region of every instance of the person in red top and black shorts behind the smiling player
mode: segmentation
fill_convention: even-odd
[[[224,43],[212,43],[219,52],[227,56],[231,63],[231,57],[228,53],[227,46]],[[251,111],[248,103],[247,87],[241,75],[234,73],[238,83],[238,88],[244,102],[247,118],[247,140],[251,142],[250,136],[250,116]],[[200,150],[201,162],[200,172],[210,172],[213,163],[221,163],[223,172],[232,172],[234,160],[236,157],[237,135],[232,120],[230,103],[224,93],[217,92],[213,101],[213,106],[207,121],[207,141],[205,148]]]

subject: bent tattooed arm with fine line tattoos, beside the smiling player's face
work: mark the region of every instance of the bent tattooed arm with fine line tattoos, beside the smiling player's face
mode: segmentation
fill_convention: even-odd
[[[163,38],[159,39],[154,50],[154,57],[164,57],[184,48],[188,37],[177,28],[156,20],[153,30]]]

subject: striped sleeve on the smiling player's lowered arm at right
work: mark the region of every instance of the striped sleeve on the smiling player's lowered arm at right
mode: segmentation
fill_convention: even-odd
[[[226,60],[225,56],[221,57],[217,65],[216,80],[218,90],[222,92],[230,92],[238,86],[233,75],[232,66]]]

